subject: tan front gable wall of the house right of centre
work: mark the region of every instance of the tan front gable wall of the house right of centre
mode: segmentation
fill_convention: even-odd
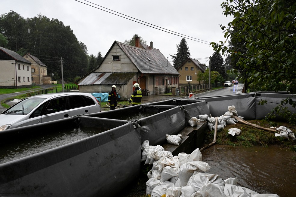
[[[186,67],[188,70],[186,70]],[[193,70],[191,70],[191,68],[193,68]],[[190,82],[190,85],[199,85],[199,81],[197,80],[197,73],[202,71],[195,63],[193,63],[193,61],[188,60],[186,63],[184,63],[182,67],[178,69],[178,72],[180,73],[180,85],[187,85],[188,82]],[[191,76],[192,80],[187,80],[187,76]],[[200,84],[204,84],[204,81],[201,81]]]

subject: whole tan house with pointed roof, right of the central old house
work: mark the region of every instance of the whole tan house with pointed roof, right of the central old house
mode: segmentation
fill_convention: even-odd
[[[207,66],[200,63],[197,59],[188,58],[176,70],[180,73],[179,84],[180,86],[199,85],[206,83],[205,81],[198,81],[197,77],[199,72],[204,73]]]

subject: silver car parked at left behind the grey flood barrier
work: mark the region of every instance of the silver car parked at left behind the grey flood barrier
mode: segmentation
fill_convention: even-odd
[[[21,100],[0,114],[0,132],[100,111],[98,100],[90,93],[35,95]]]

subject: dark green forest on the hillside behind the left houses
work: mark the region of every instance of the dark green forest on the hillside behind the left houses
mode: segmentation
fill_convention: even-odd
[[[62,78],[61,58],[66,82],[74,81],[97,66],[96,57],[88,56],[87,47],[77,40],[70,26],[41,14],[26,19],[14,11],[2,14],[0,36],[6,40],[1,42],[1,47],[21,56],[30,53],[42,61],[48,67],[48,75],[54,74],[52,80]]]

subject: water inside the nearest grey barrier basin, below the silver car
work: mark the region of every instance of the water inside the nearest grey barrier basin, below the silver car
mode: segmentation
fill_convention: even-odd
[[[61,132],[52,132],[30,139],[24,139],[21,142],[7,144],[0,148],[0,164],[69,144],[104,131],[106,129],[90,127],[65,129]]]

